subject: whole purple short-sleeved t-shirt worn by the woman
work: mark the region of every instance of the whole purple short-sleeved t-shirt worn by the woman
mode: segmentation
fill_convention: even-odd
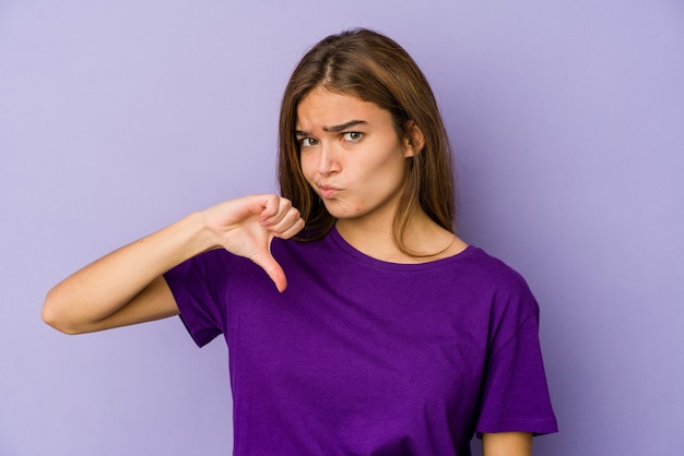
[[[236,455],[470,455],[475,432],[556,432],[524,280],[481,249],[372,259],[332,230],[274,240],[279,293],[213,250],[165,277],[202,346],[228,346]]]

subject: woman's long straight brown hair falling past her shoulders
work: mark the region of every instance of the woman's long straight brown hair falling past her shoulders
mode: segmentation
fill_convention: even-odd
[[[411,139],[411,121],[424,136],[424,147],[406,173],[406,184],[393,221],[397,245],[411,215],[421,207],[447,230],[456,229],[451,149],[435,96],[417,64],[396,41],[376,32],[355,28],[331,35],[314,46],[295,68],[280,113],[279,178],[281,194],[306,220],[299,239],[319,239],[334,225],[322,201],[302,172],[295,136],[297,106],[314,88],[353,95],[388,110],[400,139]]]

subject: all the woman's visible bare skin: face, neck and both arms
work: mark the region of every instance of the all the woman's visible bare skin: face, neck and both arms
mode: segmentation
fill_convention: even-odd
[[[421,152],[423,135],[410,125],[401,139],[391,116],[359,98],[314,89],[297,109],[302,170],[350,244],[378,260],[416,263],[451,256],[467,244],[424,213],[411,215],[401,252],[391,238],[408,159]],[[211,249],[250,259],[279,290],[285,273],[270,252],[273,238],[290,239],[304,228],[299,212],[278,195],[251,195],[193,213],[122,247],[52,288],[43,319],[67,334],[81,334],[177,315],[163,274]],[[531,455],[527,433],[483,435],[485,456]]]

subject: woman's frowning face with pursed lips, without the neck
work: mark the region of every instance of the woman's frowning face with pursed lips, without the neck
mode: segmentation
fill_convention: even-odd
[[[333,217],[393,218],[413,148],[389,111],[318,87],[299,103],[296,130],[304,177]]]

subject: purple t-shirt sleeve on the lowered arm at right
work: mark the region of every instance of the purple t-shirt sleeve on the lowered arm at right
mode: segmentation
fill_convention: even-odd
[[[475,430],[479,435],[557,432],[539,343],[539,305],[522,278],[496,299]]]

